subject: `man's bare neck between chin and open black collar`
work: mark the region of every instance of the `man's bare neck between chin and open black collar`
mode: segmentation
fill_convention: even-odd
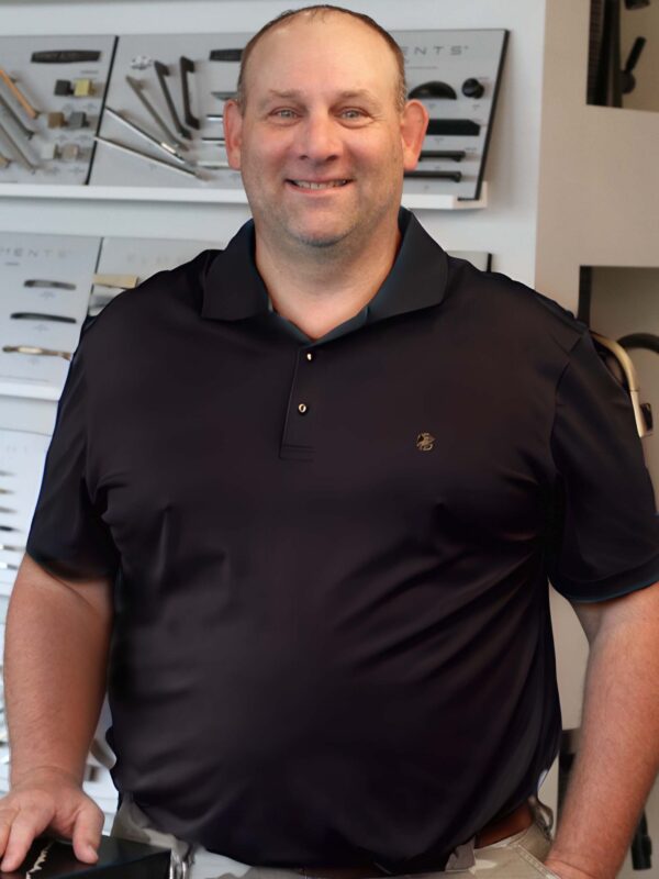
[[[398,223],[375,246],[310,247],[290,251],[256,230],[256,267],[282,318],[320,338],[355,316],[389,275],[400,245]]]

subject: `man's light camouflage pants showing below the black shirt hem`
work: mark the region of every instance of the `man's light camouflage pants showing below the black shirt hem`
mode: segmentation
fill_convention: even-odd
[[[471,839],[455,849],[445,870],[415,874],[413,879],[558,879],[543,864],[551,845],[552,812],[536,798],[529,799],[529,805],[535,821],[525,831],[483,848],[474,848]],[[116,813],[112,835],[170,848],[170,879],[301,879],[295,870],[250,867],[161,833],[149,825],[130,795]]]

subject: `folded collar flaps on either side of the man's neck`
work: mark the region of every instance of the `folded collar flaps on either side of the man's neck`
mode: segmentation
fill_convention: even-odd
[[[404,314],[444,299],[446,253],[413,213],[401,208],[402,241],[391,271],[367,305],[367,322]],[[239,321],[268,312],[266,285],[256,268],[254,221],[249,220],[212,260],[204,279],[202,318]]]

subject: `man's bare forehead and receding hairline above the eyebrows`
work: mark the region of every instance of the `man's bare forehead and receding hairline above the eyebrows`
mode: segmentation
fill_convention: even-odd
[[[311,88],[389,93],[398,65],[383,37],[344,13],[295,15],[254,47],[245,71],[249,91]]]

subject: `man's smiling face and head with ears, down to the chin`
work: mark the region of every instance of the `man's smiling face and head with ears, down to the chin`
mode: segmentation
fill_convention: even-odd
[[[395,224],[427,114],[417,102],[401,113],[395,59],[377,32],[340,13],[298,15],[255,46],[245,86],[243,115],[227,102],[224,129],[259,235],[359,245]]]

